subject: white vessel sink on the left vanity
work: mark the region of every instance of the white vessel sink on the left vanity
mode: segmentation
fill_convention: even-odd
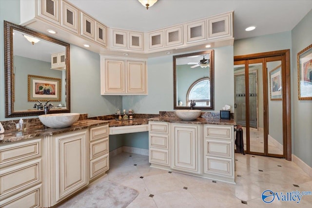
[[[57,129],[73,125],[79,119],[80,113],[53,113],[39,115],[39,120],[43,125]]]

